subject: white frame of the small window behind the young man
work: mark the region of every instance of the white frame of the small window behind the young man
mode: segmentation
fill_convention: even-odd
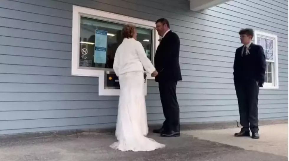
[[[274,56],[272,60],[266,60],[266,62],[273,62],[274,70],[272,70],[272,83],[264,83],[262,89],[279,89],[279,73],[278,73],[278,36],[270,33],[255,31],[254,42],[257,44],[257,38],[266,38],[273,40]]]

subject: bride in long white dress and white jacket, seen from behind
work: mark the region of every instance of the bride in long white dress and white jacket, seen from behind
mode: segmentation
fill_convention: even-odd
[[[136,40],[133,25],[122,29],[123,42],[116,50],[114,72],[119,77],[120,96],[115,136],[118,142],[110,145],[121,151],[152,151],[165,147],[147,138],[147,111],[144,97],[144,69],[156,76],[157,71],[147,58],[142,44]],[[143,69],[144,68],[144,69]]]

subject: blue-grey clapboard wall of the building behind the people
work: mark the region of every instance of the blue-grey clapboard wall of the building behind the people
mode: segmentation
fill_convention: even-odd
[[[239,120],[233,61],[244,27],[278,35],[279,90],[260,90],[259,118],[288,117],[288,1],[234,0],[201,12],[188,0],[0,0],[0,134],[113,127],[118,97],[71,76],[72,5],[155,21],[181,41],[181,122]],[[161,123],[149,81],[149,123]]]

